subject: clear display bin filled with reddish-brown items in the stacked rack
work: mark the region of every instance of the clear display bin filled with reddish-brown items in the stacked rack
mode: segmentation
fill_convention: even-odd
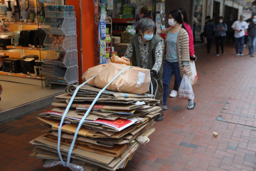
[[[60,36],[64,36],[64,39]],[[46,35],[44,46],[46,50],[57,50],[62,52],[76,50],[76,35]]]

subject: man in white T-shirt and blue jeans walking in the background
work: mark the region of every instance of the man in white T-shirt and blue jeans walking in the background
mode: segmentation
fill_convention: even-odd
[[[231,26],[232,29],[235,31],[235,43],[236,43],[236,55],[243,56],[243,49],[244,49],[244,35],[247,32],[248,26],[245,20],[245,15],[240,15],[240,20],[237,20]]]

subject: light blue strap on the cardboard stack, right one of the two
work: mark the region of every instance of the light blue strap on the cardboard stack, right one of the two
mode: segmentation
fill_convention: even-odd
[[[84,119],[87,117],[88,113],[90,112],[90,110],[93,108],[93,105],[96,103],[96,101],[98,100],[99,96],[101,95],[101,93],[109,86],[109,84],[111,84],[120,74],[122,74],[122,72],[124,72],[127,68],[131,68],[133,66],[130,66],[130,67],[126,67],[124,69],[122,69],[122,71],[120,71],[99,93],[98,95],[96,96],[96,98],[93,100],[92,104],[90,105],[90,107],[88,108],[87,112],[84,114],[83,118],[81,119],[81,121],[79,122],[79,125],[77,126],[76,128],[76,132],[74,134],[74,138],[73,138],[73,141],[70,145],[70,150],[68,152],[68,155],[67,155],[67,165],[70,164],[70,157],[71,157],[71,153],[73,151],[73,147],[74,147],[74,144],[76,142],[76,136],[78,134],[78,131],[79,129],[81,128],[81,125],[82,123],[84,122]],[[73,96],[72,96],[73,97]]]

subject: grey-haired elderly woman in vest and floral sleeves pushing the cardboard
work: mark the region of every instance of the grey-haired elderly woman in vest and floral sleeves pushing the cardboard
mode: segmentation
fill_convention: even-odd
[[[143,18],[139,21],[139,33],[131,38],[131,42],[125,52],[125,58],[131,60],[134,56],[135,65],[137,67],[150,70],[150,77],[155,78],[158,83],[156,99],[160,100],[159,106],[163,106],[163,66],[162,66],[162,47],[161,40],[154,33],[154,21],[149,18]],[[156,85],[153,82],[155,91]],[[157,116],[157,121],[163,119],[163,112]]]

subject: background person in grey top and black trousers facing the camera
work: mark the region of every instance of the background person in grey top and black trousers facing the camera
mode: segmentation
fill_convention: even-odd
[[[224,55],[224,40],[227,32],[227,24],[223,23],[223,17],[218,18],[218,23],[214,25],[213,31],[215,32],[216,41],[216,56],[219,54],[219,45],[221,45],[221,53]]]

